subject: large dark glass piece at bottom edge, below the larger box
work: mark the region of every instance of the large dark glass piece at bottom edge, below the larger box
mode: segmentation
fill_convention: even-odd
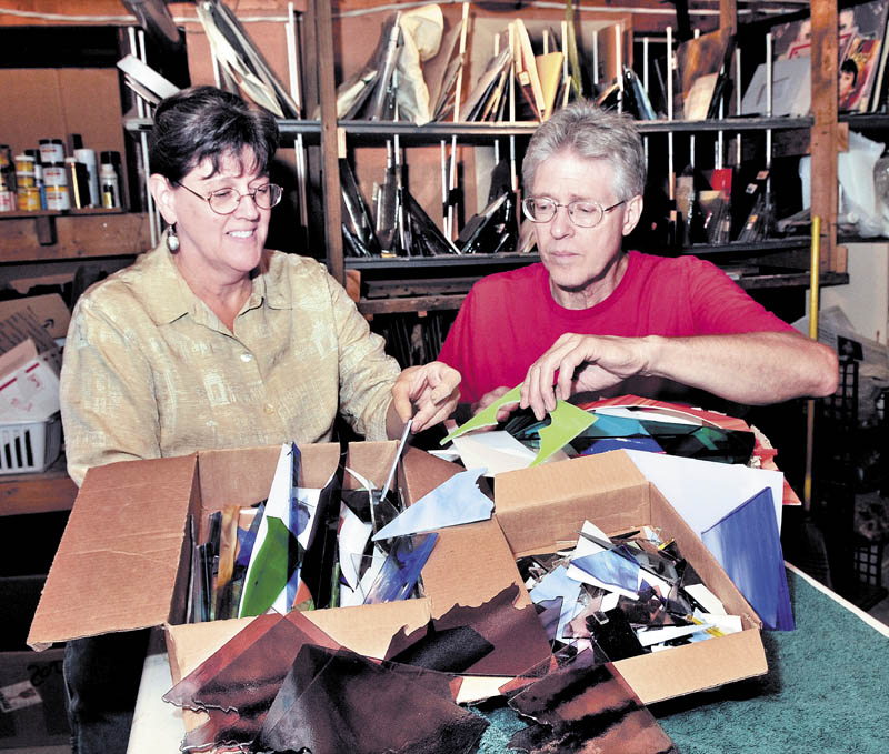
[[[380,724],[386,721],[386,724]],[[462,754],[488,723],[347,650],[303,646],[266,717],[261,751]]]

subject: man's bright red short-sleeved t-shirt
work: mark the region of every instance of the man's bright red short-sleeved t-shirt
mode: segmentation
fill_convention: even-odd
[[[473,402],[519,384],[566,332],[676,338],[772,331],[795,332],[715,264],[631,251],[615,292],[589,309],[556,303],[539,262],[483,278],[463,301],[439,360],[462,374],[461,398]]]

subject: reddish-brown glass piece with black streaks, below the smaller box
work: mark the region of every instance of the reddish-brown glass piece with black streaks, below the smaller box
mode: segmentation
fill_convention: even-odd
[[[613,665],[596,664],[589,652],[519,692],[509,706],[535,721],[510,740],[513,750],[530,754],[678,754]]]

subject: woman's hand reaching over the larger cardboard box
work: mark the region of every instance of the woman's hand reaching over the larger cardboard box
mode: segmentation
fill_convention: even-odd
[[[451,415],[460,400],[460,373],[440,361],[408,366],[392,385],[392,405],[402,425],[412,416],[420,432]],[[399,433],[390,436],[398,436]]]

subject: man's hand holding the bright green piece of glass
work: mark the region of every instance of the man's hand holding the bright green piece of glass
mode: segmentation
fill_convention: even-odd
[[[645,374],[648,360],[643,338],[566,333],[529,368],[519,405],[531,406],[535,416],[543,419],[556,408],[557,399],[605,390],[635,374]]]

